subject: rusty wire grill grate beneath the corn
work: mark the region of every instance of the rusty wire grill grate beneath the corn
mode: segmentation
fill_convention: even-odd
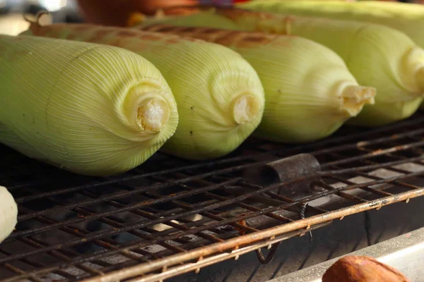
[[[158,153],[109,178],[0,147],[0,185],[19,206],[16,231],[0,245],[0,280],[160,281],[254,250],[268,263],[281,240],[424,195],[423,122],[416,114],[375,130],[343,128],[302,146],[252,139],[211,162]],[[321,170],[254,180],[262,165],[300,153]],[[261,247],[271,248],[268,257]]]

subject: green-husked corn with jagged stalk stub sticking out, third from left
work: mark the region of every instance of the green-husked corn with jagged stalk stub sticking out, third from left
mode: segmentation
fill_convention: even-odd
[[[372,87],[358,85],[334,51],[309,39],[202,27],[143,28],[216,42],[241,54],[264,85],[266,106],[255,135],[267,140],[320,140],[374,102]]]

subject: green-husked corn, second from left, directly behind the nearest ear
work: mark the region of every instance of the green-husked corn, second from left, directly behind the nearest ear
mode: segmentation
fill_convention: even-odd
[[[177,100],[179,125],[163,150],[187,159],[222,157],[259,125],[264,89],[240,54],[175,35],[95,25],[33,24],[28,34],[114,45],[155,64]]]

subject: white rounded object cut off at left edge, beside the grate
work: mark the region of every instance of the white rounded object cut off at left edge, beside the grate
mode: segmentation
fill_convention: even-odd
[[[11,193],[0,186],[0,243],[11,235],[18,221],[18,206]]]

